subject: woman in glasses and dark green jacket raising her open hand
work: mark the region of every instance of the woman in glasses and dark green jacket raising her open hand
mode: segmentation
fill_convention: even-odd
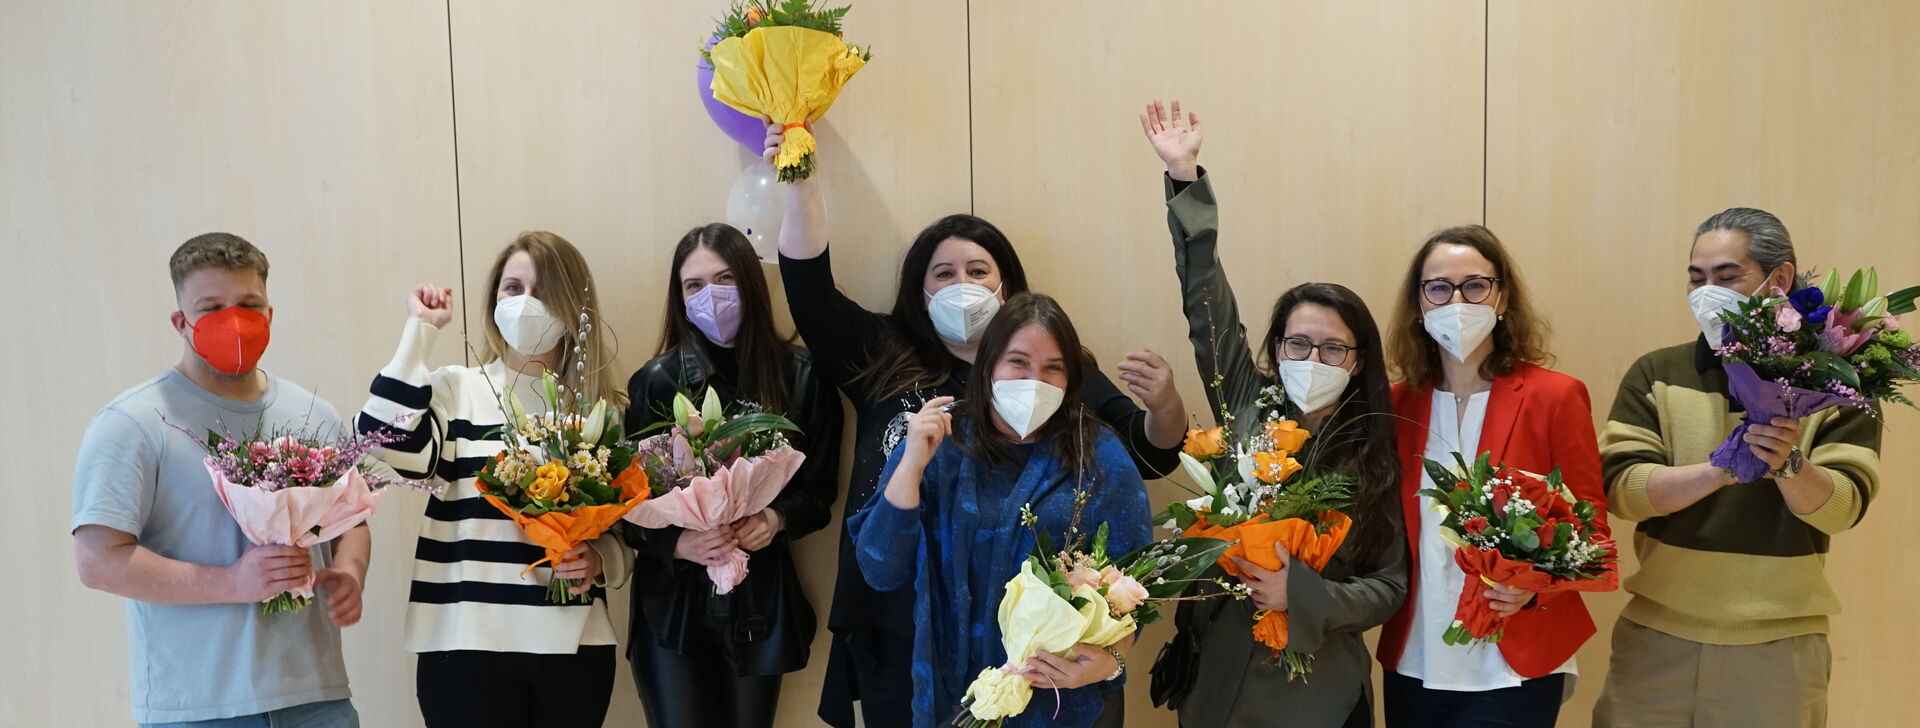
[[[1371,726],[1373,665],[1361,634],[1386,622],[1407,594],[1407,546],[1396,486],[1392,400],[1380,332],[1367,303],[1331,282],[1304,282],[1273,303],[1260,348],[1250,348],[1238,302],[1219,259],[1219,207],[1200,169],[1200,117],[1148,104],[1140,129],[1167,165],[1167,227],[1181,279],[1187,338],[1215,413],[1242,428],[1269,415],[1261,390],[1281,386],[1277,409],[1315,436],[1300,459],[1356,480],[1354,528],[1315,572],[1281,551],[1267,570],[1242,561],[1250,599],[1181,603],[1179,630],[1154,667],[1154,701],[1171,703],[1185,728]],[[1263,359],[1260,363],[1256,359]],[[1277,546],[1279,549],[1279,546]],[[1212,572],[1221,576],[1219,570]],[[1250,636],[1256,611],[1284,611],[1286,645],[1313,655],[1313,672],[1290,680]]]

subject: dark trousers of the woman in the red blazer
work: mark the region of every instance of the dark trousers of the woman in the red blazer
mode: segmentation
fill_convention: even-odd
[[[1386,728],[1553,728],[1567,674],[1500,690],[1430,690],[1386,670]]]

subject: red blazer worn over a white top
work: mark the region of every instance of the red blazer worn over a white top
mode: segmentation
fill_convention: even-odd
[[[1394,413],[1402,417],[1400,505],[1407,521],[1407,547],[1413,551],[1407,601],[1380,632],[1379,661],[1392,670],[1407,645],[1413,607],[1421,590],[1421,457],[1427,453],[1427,421],[1432,415],[1432,388],[1394,384]],[[1548,473],[1555,467],[1576,497],[1594,501],[1599,524],[1607,522],[1607,492],[1599,478],[1599,442],[1594,436],[1592,401],[1578,378],[1521,363],[1494,380],[1480,426],[1480,451],[1494,453],[1494,465]],[[1476,453],[1463,453],[1473,461]],[[1453,595],[1448,595],[1450,599]],[[1438,626],[1436,626],[1438,628]],[[1523,678],[1540,678],[1567,663],[1594,636],[1594,619],[1578,592],[1540,597],[1507,620],[1500,653]],[[1459,647],[1465,649],[1465,647]]]

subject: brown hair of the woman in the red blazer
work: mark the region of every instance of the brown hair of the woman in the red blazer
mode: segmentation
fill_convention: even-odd
[[[1532,296],[1526,284],[1521,282],[1521,269],[1513,263],[1513,255],[1507,254],[1507,246],[1486,227],[1459,225],[1430,234],[1421,244],[1419,254],[1413,254],[1413,263],[1407,263],[1407,277],[1400,284],[1398,303],[1394,305],[1394,325],[1388,327],[1388,359],[1394,363],[1394,373],[1400,380],[1430,388],[1440,384],[1444,373],[1440,367],[1440,344],[1434,344],[1432,336],[1427,334],[1427,323],[1421,317],[1421,267],[1427,265],[1427,257],[1440,246],[1467,246],[1478,252],[1480,257],[1486,257],[1488,263],[1494,263],[1494,277],[1500,279],[1494,284],[1494,296],[1498,296],[1496,302],[1507,303],[1507,311],[1494,323],[1494,332],[1488,336],[1494,342],[1494,352],[1480,363],[1480,378],[1494,380],[1496,376],[1511,375],[1513,367],[1521,361],[1542,367],[1551,365],[1553,355],[1548,353],[1546,346],[1548,323],[1534,313]]]

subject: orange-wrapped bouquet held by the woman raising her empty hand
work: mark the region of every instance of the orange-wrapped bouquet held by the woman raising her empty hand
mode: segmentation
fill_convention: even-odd
[[[1219,557],[1219,567],[1233,576],[1246,576],[1235,557],[1261,569],[1281,569],[1275,544],[1308,569],[1327,569],[1354,526],[1340,511],[1354,501],[1354,478],[1323,469],[1302,474],[1309,469],[1292,455],[1311,434],[1279,415],[1284,398],[1277,386],[1261,390],[1256,405],[1267,415],[1258,430],[1238,442],[1229,413],[1221,413],[1227,425],[1188,430],[1181,467],[1200,484],[1202,494],[1167,505],[1154,517],[1183,536],[1233,542]],[[1256,613],[1254,640],[1271,647],[1273,657],[1286,665],[1288,680],[1313,670],[1313,655],[1286,649],[1286,613]]]

